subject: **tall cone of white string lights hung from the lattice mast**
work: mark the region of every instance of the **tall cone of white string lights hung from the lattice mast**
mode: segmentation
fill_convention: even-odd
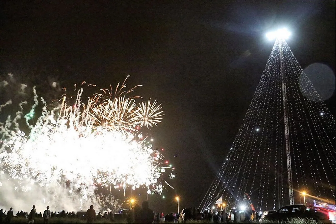
[[[290,203],[283,94],[294,201],[301,203],[300,191],[306,189],[311,195],[335,199],[331,184],[335,179],[335,118],[286,41],[278,38],[232,147],[200,205],[202,211],[222,195],[226,209],[243,203],[245,193],[257,211]]]

